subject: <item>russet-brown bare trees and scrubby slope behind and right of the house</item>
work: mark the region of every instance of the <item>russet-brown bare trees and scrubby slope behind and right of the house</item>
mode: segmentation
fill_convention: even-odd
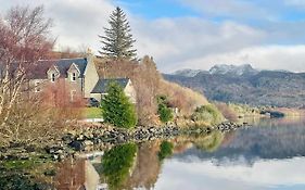
[[[170,106],[178,107],[181,115],[191,115],[198,106],[208,103],[203,94],[166,81],[150,56],[144,56],[139,62],[97,58],[96,65],[101,78],[131,79],[137,93],[137,113],[141,125],[158,122],[158,96],[167,97]]]

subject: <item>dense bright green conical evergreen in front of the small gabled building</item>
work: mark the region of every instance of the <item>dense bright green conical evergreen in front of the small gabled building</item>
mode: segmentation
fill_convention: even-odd
[[[137,124],[136,109],[117,83],[110,83],[101,102],[104,122],[116,127],[131,128]]]

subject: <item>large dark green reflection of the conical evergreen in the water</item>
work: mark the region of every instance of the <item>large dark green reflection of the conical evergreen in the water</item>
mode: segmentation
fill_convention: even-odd
[[[137,154],[137,145],[127,143],[116,145],[105,152],[102,167],[105,179],[111,189],[122,189],[127,181]]]

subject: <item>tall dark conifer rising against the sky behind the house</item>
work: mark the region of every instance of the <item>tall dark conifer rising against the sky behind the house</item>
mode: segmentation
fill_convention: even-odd
[[[137,50],[134,48],[130,25],[120,8],[116,8],[110,16],[110,28],[104,28],[105,36],[99,36],[103,43],[100,54],[111,59],[135,60]]]

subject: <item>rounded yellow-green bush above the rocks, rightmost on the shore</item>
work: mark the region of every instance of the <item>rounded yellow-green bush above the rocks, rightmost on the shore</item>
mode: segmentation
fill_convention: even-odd
[[[221,113],[213,104],[196,107],[191,117],[195,122],[203,121],[211,124],[218,124],[224,119]]]

